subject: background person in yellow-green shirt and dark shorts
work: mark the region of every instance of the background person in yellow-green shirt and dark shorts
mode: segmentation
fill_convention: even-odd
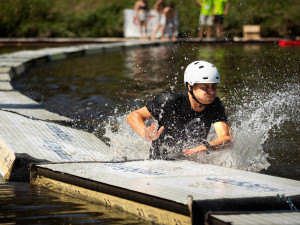
[[[213,4],[213,17],[216,24],[216,37],[222,38],[223,36],[223,21],[224,16],[228,15],[230,3],[228,0],[214,0]]]

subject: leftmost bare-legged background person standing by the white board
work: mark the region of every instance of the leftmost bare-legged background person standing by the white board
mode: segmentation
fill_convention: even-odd
[[[135,18],[139,21],[140,34],[142,40],[148,39],[147,20],[149,15],[149,6],[146,0],[138,0],[134,5]],[[143,29],[144,28],[144,29]],[[144,32],[143,32],[144,30]]]

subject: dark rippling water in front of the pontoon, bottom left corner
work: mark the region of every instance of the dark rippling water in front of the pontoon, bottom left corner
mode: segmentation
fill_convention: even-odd
[[[151,224],[111,208],[0,178],[1,224]]]

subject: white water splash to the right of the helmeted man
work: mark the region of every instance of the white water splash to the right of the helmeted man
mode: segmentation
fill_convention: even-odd
[[[299,85],[283,84],[273,93],[251,93],[229,117],[234,141],[231,146],[210,155],[198,155],[195,160],[219,166],[257,172],[267,169],[269,154],[262,146],[273,129],[279,130],[288,120],[299,121]],[[245,91],[245,90],[244,90]],[[227,105],[233,105],[234,99]],[[215,134],[210,134],[213,139]]]

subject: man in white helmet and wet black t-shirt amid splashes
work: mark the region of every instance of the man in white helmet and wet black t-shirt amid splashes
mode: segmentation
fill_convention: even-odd
[[[217,68],[205,61],[189,64],[184,73],[187,91],[163,93],[131,112],[127,123],[146,141],[152,141],[150,158],[182,158],[208,152],[231,141],[224,107],[216,97]],[[155,119],[147,127],[146,120]],[[206,141],[211,125],[217,138]]]

